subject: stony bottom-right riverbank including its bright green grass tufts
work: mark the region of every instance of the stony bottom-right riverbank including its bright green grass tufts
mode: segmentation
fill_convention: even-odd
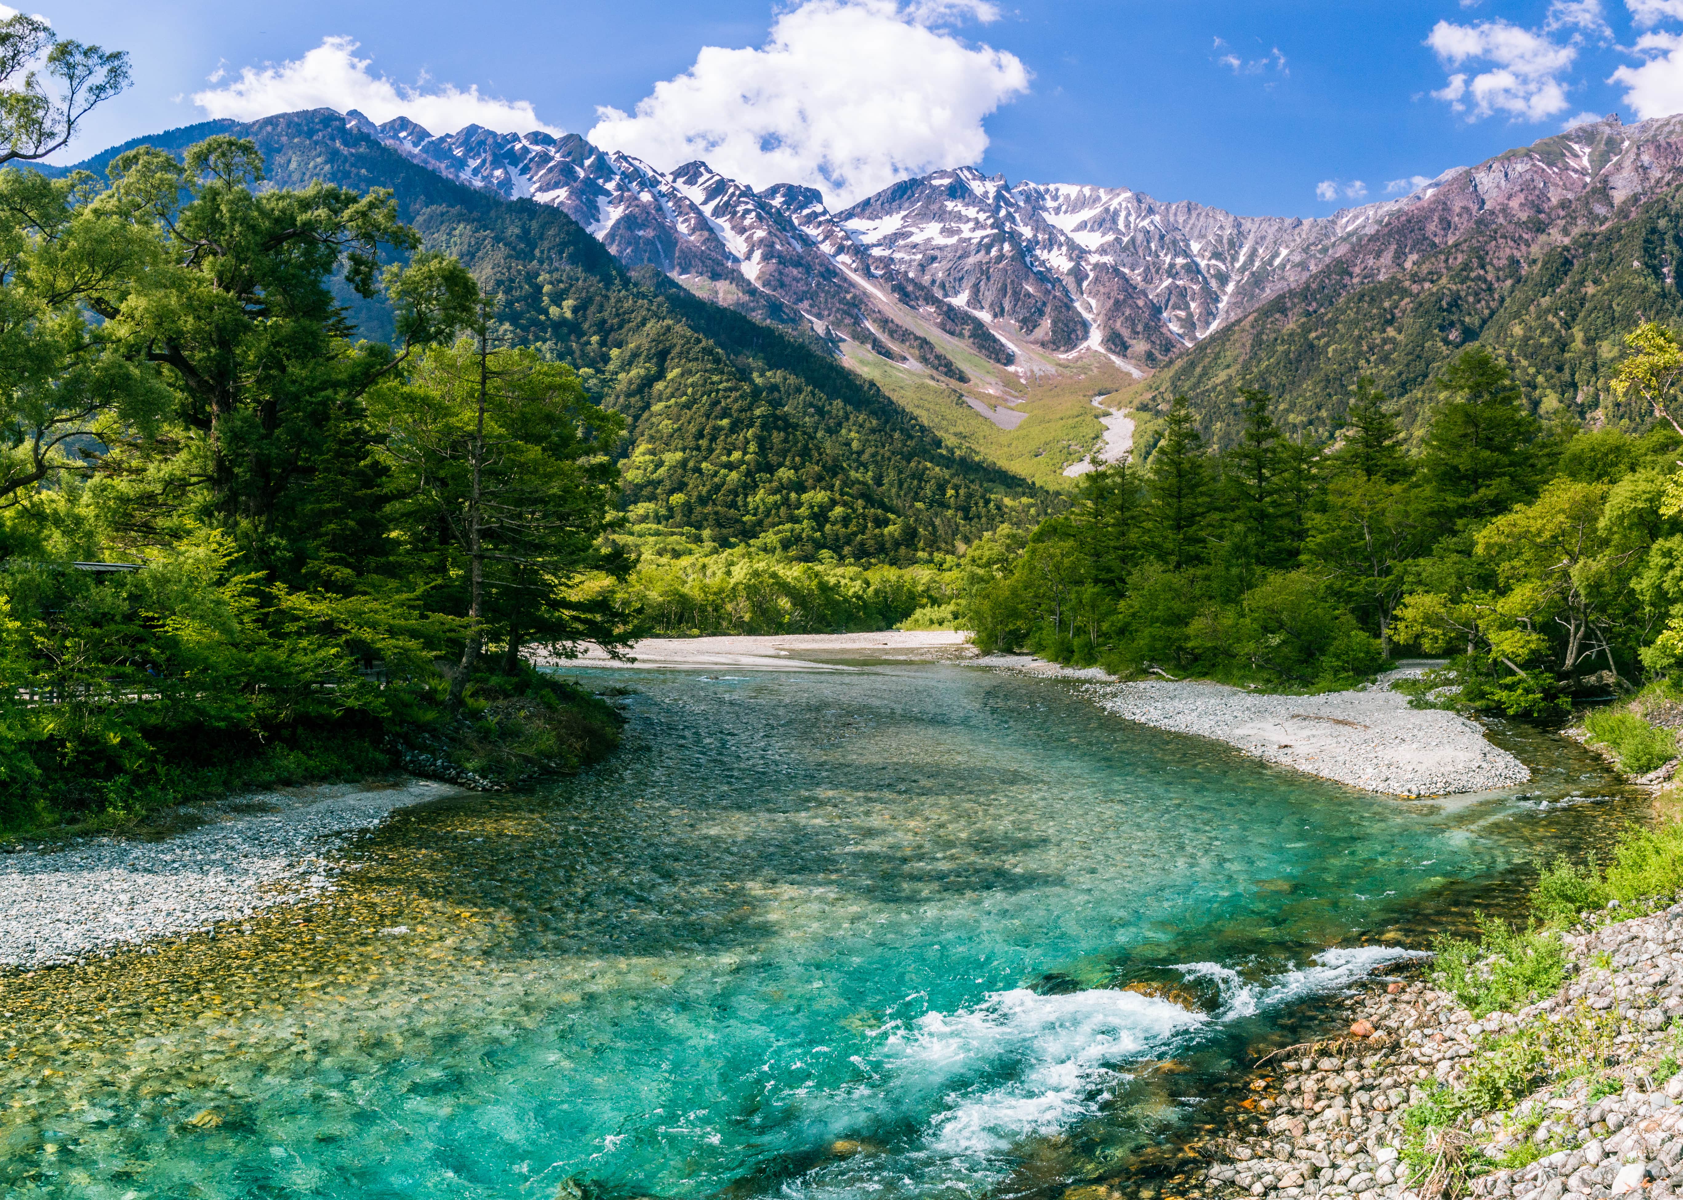
[[[1548,865],[1528,924],[1439,939],[1426,981],[1348,1001],[1348,1035],[1259,1072],[1266,1124],[1220,1146],[1212,1192],[1666,1195],[1683,1165],[1680,897],[1675,821],[1633,828],[1606,865]]]

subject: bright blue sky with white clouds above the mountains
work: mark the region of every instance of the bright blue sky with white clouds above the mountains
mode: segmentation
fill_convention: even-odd
[[[528,113],[656,167],[703,157],[831,200],[980,158],[1308,217],[1582,114],[1683,111],[1683,0],[39,2],[135,61],[74,157],[207,111],[384,89],[434,131]]]

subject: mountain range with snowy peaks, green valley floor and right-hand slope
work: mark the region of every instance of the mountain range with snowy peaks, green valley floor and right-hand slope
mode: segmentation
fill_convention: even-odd
[[[549,212],[692,328],[729,310],[781,330],[815,355],[808,367],[828,357],[860,396],[880,387],[953,463],[1040,486],[1118,453],[1118,409],[1148,453],[1176,394],[1217,444],[1235,433],[1240,385],[1281,397],[1287,426],[1330,436],[1368,374],[1417,431],[1436,369],[1474,340],[1508,357],[1543,416],[1636,422],[1606,389],[1622,333],[1644,316],[1683,320],[1683,118],[1607,116],[1323,219],[971,168],[831,212],[811,188],[756,190],[702,162],[658,170],[576,135],[434,136],[332,109],[151,141],[219,128],[256,136],[283,163],[278,180],[394,187],[429,244],[481,266],[513,271],[510,249],[483,229],[470,237],[459,214],[530,227],[517,214]],[[530,313],[555,310],[552,291],[532,293]],[[532,337],[552,335],[539,328],[549,316],[532,320]]]

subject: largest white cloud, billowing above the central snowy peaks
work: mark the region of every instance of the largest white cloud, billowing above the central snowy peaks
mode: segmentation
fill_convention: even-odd
[[[752,187],[804,183],[853,204],[981,160],[983,118],[1028,91],[1030,72],[942,24],[993,17],[976,0],[806,0],[761,49],[702,47],[634,113],[597,109],[589,140],[660,168],[703,158]]]

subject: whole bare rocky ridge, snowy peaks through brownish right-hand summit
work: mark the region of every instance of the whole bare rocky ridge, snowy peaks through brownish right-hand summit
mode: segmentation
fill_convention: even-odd
[[[1325,306],[1481,224],[1511,227],[1528,246],[1589,192],[1606,194],[1599,215],[1612,219],[1621,200],[1673,187],[1683,163],[1683,118],[1622,126],[1609,116],[1323,219],[1239,217],[1129,188],[1013,185],[973,168],[909,178],[830,212],[813,188],[756,192],[700,162],[661,172],[577,135],[468,126],[433,136],[404,118],[347,121],[449,178],[560,207],[628,266],[959,382],[953,347],[897,313],[917,313],[1000,365],[1023,350],[1054,362],[1092,350],[1143,374],[1286,293]]]

